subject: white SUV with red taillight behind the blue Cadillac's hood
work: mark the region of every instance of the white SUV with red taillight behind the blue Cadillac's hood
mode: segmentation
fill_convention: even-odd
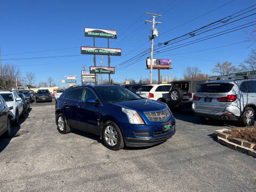
[[[140,97],[167,102],[167,93],[171,89],[171,84],[149,84],[142,85],[136,92]]]

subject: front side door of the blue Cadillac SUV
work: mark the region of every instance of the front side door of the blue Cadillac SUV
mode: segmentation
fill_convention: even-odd
[[[96,103],[86,103],[86,99],[98,100],[97,96],[90,88],[84,88],[82,100],[78,101],[77,117],[78,117],[78,129],[99,134],[99,105]]]

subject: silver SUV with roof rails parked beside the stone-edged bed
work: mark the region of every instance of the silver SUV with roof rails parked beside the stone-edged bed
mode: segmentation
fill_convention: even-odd
[[[256,111],[256,79],[246,77],[203,83],[194,94],[192,108],[204,119],[227,119],[251,126]]]

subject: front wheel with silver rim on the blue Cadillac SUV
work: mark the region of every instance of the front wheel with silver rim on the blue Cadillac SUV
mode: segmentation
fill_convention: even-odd
[[[110,140],[107,141],[107,137],[108,137],[107,135],[109,135],[110,131],[111,131],[111,134],[109,136]],[[111,138],[113,138],[113,139],[111,139]],[[122,135],[118,125],[113,121],[107,121],[105,123],[105,125],[103,126],[102,139],[103,139],[103,142],[105,143],[105,146],[111,150],[119,150],[119,149],[124,148],[123,135]]]

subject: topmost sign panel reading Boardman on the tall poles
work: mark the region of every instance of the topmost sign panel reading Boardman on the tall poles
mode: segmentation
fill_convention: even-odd
[[[86,37],[116,38],[115,30],[84,28]]]

